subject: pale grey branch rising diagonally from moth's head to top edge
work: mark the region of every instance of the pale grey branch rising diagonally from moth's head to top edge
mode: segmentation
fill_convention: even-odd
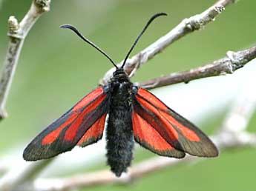
[[[220,15],[223,10],[225,10],[227,5],[234,3],[234,1],[235,0],[219,0],[203,13],[191,16],[188,19],[183,19],[183,21],[181,21],[177,27],[174,27],[174,29],[165,36],[159,38],[157,41],[142,50],[140,53],[137,53],[137,55],[133,56],[131,59],[128,59],[125,64],[125,72],[130,76],[133,76],[136,70],[138,70],[142,64],[145,64],[148,60],[163,52],[163,50],[170,44],[174,43],[174,41],[177,41],[183,36],[194,32],[194,30],[203,29],[206,24],[214,21],[214,19]],[[120,64],[118,65],[120,66]],[[112,77],[114,70],[115,67],[108,70],[108,72],[105,73],[105,76],[99,81],[99,84],[107,84]]]

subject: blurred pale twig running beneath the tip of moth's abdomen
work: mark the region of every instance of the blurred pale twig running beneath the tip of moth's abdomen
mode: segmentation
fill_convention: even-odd
[[[140,164],[134,165],[129,172],[123,174],[120,178],[109,170],[100,170],[85,175],[75,175],[70,178],[39,178],[34,182],[33,190],[37,191],[66,191],[77,188],[92,187],[93,185],[104,184],[127,184],[151,172],[163,169],[163,167],[175,165],[181,161],[190,161],[192,158],[188,156],[183,160],[175,160],[174,158],[154,157]]]

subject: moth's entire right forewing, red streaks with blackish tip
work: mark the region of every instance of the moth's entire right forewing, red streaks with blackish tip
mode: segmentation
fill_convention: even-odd
[[[134,87],[133,93],[134,112],[154,127],[176,150],[200,157],[218,155],[217,148],[207,135],[148,90]]]

